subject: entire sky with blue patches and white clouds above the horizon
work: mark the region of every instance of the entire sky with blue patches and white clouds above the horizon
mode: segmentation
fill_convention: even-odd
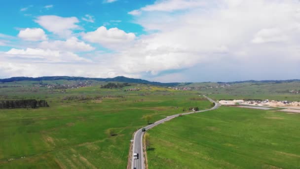
[[[0,78],[300,79],[299,8],[297,0],[4,1]]]

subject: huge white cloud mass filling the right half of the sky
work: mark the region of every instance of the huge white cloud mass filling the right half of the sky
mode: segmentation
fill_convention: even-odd
[[[169,12],[181,9],[189,10]],[[290,63],[300,60],[299,9],[295,0],[159,0],[135,11],[145,12],[136,16],[135,23],[156,33],[140,37],[135,46],[120,52],[118,64],[126,73],[156,75],[199,64],[224,68],[226,61],[259,74],[264,68],[257,67],[257,60],[270,69],[283,59]],[[269,65],[274,59],[277,63]],[[232,72],[229,67],[224,71]]]

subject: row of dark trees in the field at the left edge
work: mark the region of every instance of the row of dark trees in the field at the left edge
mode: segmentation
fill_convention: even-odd
[[[38,108],[38,107],[49,107],[49,105],[46,102],[46,100],[36,100],[36,99],[0,101],[0,109]]]

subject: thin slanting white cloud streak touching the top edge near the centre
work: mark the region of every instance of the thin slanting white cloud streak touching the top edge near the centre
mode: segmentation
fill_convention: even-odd
[[[157,0],[154,4],[128,12],[131,15],[139,15],[142,11],[172,12],[203,6],[203,0]]]

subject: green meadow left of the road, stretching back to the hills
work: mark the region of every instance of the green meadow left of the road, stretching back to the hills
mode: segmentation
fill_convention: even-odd
[[[132,84],[140,91],[90,87],[50,90],[33,82],[5,83],[0,99],[45,99],[50,107],[0,110],[0,168],[124,169],[133,132],[188,107],[210,108],[195,91]],[[43,82],[70,83],[70,82]],[[67,100],[66,96],[97,97]],[[98,97],[97,97],[98,98]],[[200,99],[193,99],[200,98]],[[108,130],[113,129],[113,136]]]

